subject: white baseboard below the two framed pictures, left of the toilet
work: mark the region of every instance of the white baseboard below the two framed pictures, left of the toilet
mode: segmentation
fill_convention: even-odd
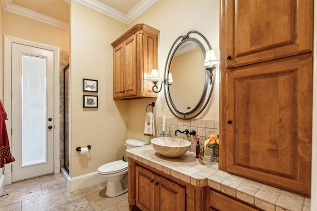
[[[64,178],[67,180],[67,190],[69,192],[74,192],[76,190],[87,188],[89,186],[106,181],[106,179],[100,176],[97,171],[80,176],[75,176],[72,178],[68,175],[67,171],[64,168],[62,168],[61,171]]]

